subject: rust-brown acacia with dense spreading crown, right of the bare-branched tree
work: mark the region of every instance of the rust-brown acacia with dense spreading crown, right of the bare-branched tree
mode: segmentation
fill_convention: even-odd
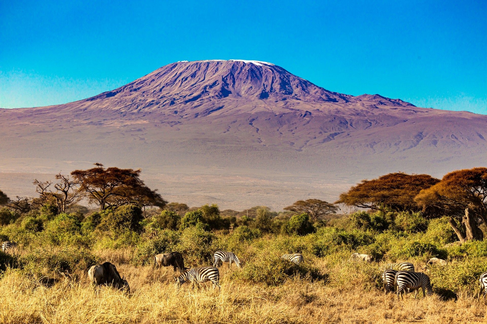
[[[121,205],[164,207],[167,204],[157,190],[151,190],[140,179],[141,170],[104,168],[95,163],[88,170],[75,170],[71,175],[79,183],[79,191],[90,204],[100,210]]]

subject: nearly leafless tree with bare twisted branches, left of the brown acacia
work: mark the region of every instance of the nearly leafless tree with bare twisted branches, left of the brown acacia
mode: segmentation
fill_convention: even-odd
[[[53,182],[40,182],[37,179],[34,180],[34,185],[39,193],[41,204],[54,203],[59,212],[65,212],[67,208],[76,205],[83,199],[78,188],[79,182],[71,180],[69,176],[61,173],[56,174],[56,180],[57,182],[52,187]],[[51,188],[55,190],[53,191]]]

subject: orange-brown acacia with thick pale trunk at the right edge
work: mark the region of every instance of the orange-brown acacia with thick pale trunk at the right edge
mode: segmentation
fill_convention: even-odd
[[[460,242],[483,239],[487,223],[487,168],[452,171],[441,182],[421,190],[414,201],[429,217],[449,216]]]

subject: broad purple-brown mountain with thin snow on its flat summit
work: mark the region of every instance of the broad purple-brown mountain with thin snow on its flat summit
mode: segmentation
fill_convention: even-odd
[[[267,62],[182,61],[85,100],[0,109],[0,188],[16,194],[16,172],[101,162],[142,168],[169,199],[282,208],[389,171],[485,165],[486,126],[484,115],[329,91]]]

